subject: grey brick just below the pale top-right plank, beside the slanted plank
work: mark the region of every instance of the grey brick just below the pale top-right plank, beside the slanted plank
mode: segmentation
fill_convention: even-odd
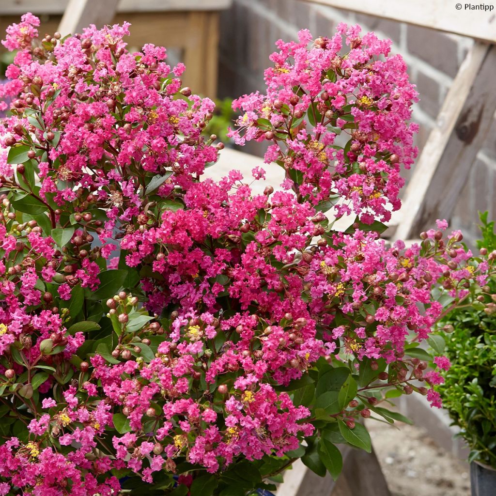
[[[454,77],[458,71],[458,44],[445,34],[433,29],[409,25],[408,51]]]

